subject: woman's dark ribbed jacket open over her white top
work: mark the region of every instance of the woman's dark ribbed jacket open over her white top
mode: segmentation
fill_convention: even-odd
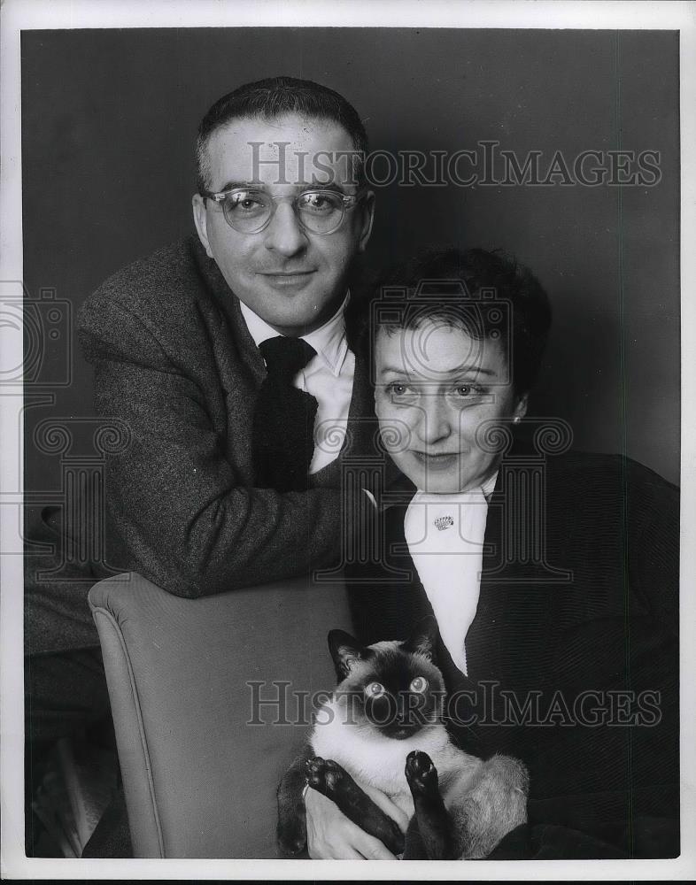
[[[530,768],[532,826],[514,837],[511,857],[673,856],[677,489],[618,456],[540,464],[521,451],[502,463],[468,677],[439,644],[452,732],[469,752],[506,752]],[[432,612],[407,552],[405,510],[386,511],[382,563],[352,569],[353,581],[371,570],[351,590],[366,643],[406,638]],[[397,568],[410,580],[388,582]]]

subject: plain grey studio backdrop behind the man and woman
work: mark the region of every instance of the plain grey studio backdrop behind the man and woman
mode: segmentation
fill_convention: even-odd
[[[35,428],[65,418],[79,441],[80,419],[93,414],[89,366],[64,346],[70,317],[120,266],[193,231],[198,120],[240,83],[280,73],[347,96],[373,150],[452,155],[498,142],[495,150],[514,151],[521,165],[539,152],[542,178],[557,151],[571,168],[588,150],[604,165],[612,150],[659,152],[659,174],[623,187],[568,182],[562,171],[552,186],[505,185],[500,171],[468,187],[394,181],[377,188],[367,264],[439,242],[514,253],[554,307],[530,412],[566,419],[577,448],[625,451],[678,481],[678,71],[676,32],[25,32],[24,277],[28,295],[43,292],[45,302],[35,389],[66,376],[50,402],[27,401],[33,504],[59,492],[66,457],[37,444]],[[458,171],[472,170],[462,163]],[[375,177],[389,172],[375,164]],[[50,299],[63,318],[55,341],[46,337]]]

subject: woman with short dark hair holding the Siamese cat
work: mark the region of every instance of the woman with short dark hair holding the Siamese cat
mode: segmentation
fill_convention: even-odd
[[[676,856],[677,489],[568,450],[555,419],[515,439],[551,321],[529,271],[434,252],[381,291],[364,341],[408,489],[376,502],[380,552],[349,573],[359,638],[435,614],[453,734],[530,769],[529,824],[495,858]],[[305,802],[312,857],[388,855]]]

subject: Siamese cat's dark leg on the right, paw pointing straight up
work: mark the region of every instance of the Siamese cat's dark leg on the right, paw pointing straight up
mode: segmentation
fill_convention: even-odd
[[[426,858],[428,860],[453,858],[452,820],[437,785],[437,769],[427,753],[414,750],[408,754],[406,781],[414,797],[415,819],[418,821],[418,833]],[[407,846],[406,854],[412,850],[417,848],[412,849],[411,846]]]

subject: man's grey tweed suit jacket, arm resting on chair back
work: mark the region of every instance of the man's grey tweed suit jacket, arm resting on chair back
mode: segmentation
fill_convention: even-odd
[[[105,562],[91,563],[81,588],[77,571],[74,583],[50,586],[36,578],[46,558],[29,563],[27,650],[97,644],[86,594],[109,573],[136,571],[196,597],[336,562],[344,459],[373,430],[360,359],[340,456],[313,474],[308,491],[278,494],[253,488],[251,420],[264,361],[197,237],[104,282],[77,328],[94,366],[97,414],[107,425],[117,419],[128,438],[106,458]]]

